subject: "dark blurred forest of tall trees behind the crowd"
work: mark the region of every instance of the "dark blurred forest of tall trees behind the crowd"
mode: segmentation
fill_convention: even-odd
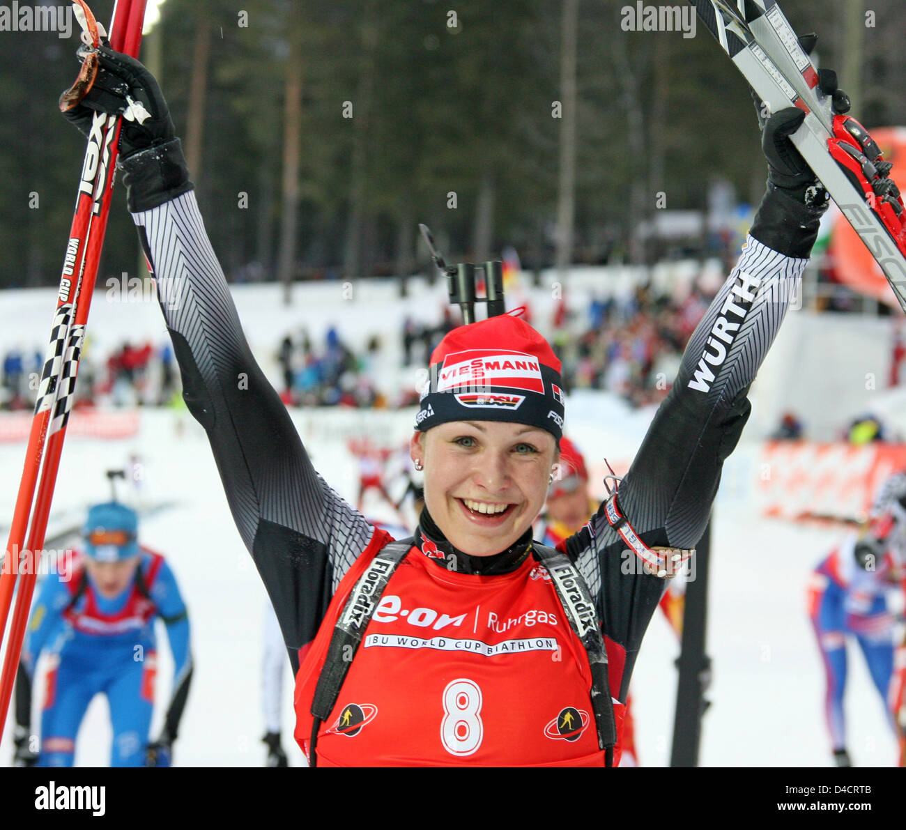
[[[651,262],[670,255],[639,233],[656,210],[707,211],[716,183],[755,205],[766,169],[707,29],[625,31],[636,6],[166,0],[141,57],[231,281],[405,277],[427,264],[419,222],[453,261]],[[783,7],[857,118],[906,124],[906,4]],[[92,8],[110,19],[111,0]],[[84,140],[57,98],[77,45],[0,32],[0,288],[59,279]],[[118,190],[98,285],[139,271]]]

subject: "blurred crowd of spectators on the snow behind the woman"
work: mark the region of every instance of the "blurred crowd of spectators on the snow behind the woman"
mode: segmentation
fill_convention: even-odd
[[[660,401],[679,368],[685,343],[708,307],[698,289],[681,302],[639,287],[624,298],[589,296],[580,309],[561,301],[551,320],[526,318],[549,336],[563,362],[567,391],[611,391],[632,406]],[[424,367],[458,314],[448,307],[435,320],[407,315],[399,332],[399,349],[389,349],[386,334],[371,334],[359,351],[346,343],[337,327],[313,341],[306,330],[287,333],[273,357],[279,367],[276,384],[289,406],[402,407],[418,401],[412,383],[393,383],[394,367]],[[361,342],[361,338],[360,338]],[[3,360],[0,409],[34,406],[43,356],[14,348]],[[379,370],[384,369],[381,372]],[[399,366],[396,367],[399,369]],[[121,343],[106,357],[92,343],[83,352],[77,405],[117,407],[166,405],[179,391],[179,378],[169,342]],[[381,384],[381,379],[384,381]]]

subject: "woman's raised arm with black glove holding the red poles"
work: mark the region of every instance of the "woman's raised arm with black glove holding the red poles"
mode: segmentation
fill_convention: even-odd
[[[66,113],[124,114],[120,171],[157,279],[183,397],[207,431],[230,510],[255,559],[287,647],[313,639],[333,589],[373,529],[312,467],[236,315],[188,179],[167,103],[137,61],[103,47],[101,71]]]

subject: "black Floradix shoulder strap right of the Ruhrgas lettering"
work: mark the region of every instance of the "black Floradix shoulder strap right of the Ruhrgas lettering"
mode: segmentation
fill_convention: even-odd
[[[547,545],[532,545],[538,561],[551,574],[554,589],[564,607],[566,618],[582,642],[592,669],[592,709],[598,731],[598,748],[606,751],[607,766],[612,766],[613,747],[617,742],[613,717],[610,680],[607,677],[607,650],[601,634],[601,623],[594,609],[592,594],[582,574],[569,558]]]

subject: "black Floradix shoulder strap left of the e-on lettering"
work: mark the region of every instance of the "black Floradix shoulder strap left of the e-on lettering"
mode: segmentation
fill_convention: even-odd
[[[381,602],[381,594],[390,582],[390,577],[409,553],[415,538],[391,542],[371,560],[364,574],[352,588],[346,604],[343,605],[340,619],[333,629],[333,638],[327,650],[327,659],[318,684],[314,689],[312,714],[316,719],[326,720],[330,717],[337,698],[340,696],[343,680],[352,665],[352,658],[359,650],[361,638],[368,623]]]

